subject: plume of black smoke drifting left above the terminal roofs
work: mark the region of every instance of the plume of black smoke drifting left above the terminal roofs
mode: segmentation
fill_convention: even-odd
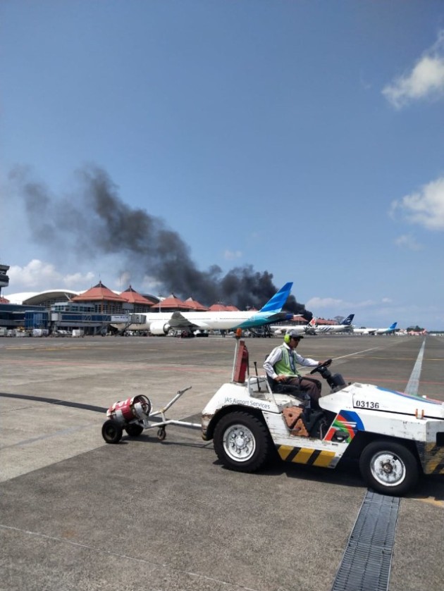
[[[30,178],[28,170],[16,169],[10,175],[25,199],[33,239],[53,254],[62,252],[67,258],[75,254],[84,260],[118,255],[122,268],[116,274],[130,273],[133,282],[148,275],[164,293],[192,296],[207,306],[221,301],[241,310],[260,309],[276,293],[273,275],[254,271],[251,265],[233,268],[225,276],[217,265],[199,270],[178,233],[144,209],[123,203],[104,170],[87,166],[77,175],[80,192],[56,199],[45,185]],[[293,296],[285,309],[312,317]]]

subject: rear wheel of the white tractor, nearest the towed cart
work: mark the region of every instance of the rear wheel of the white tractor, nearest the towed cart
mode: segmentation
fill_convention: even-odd
[[[254,472],[269,460],[272,442],[259,418],[238,411],[226,414],[214,429],[214,450],[230,470]]]

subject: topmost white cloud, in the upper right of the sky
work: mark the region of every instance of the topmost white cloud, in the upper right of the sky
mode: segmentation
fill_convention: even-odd
[[[382,93],[395,108],[415,100],[444,97],[444,30],[413,68],[396,77]]]

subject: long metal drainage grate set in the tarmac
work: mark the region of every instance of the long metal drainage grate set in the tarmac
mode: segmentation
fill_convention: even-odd
[[[368,491],[331,591],[387,591],[400,499]]]

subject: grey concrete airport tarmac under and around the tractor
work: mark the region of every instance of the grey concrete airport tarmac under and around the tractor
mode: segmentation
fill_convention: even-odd
[[[280,339],[246,339],[250,372]],[[306,337],[347,382],[405,390],[424,337]],[[230,381],[233,338],[0,340],[1,591],[329,591],[367,489],[356,466],[218,463],[199,430],[106,444],[118,400],[199,421]],[[419,392],[444,400],[444,339],[426,337]],[[323,386],[323,393],[328,385]],[[400,502],[389,591],[444,587],[444,477]],[[360,587],[357,587],[357,589]],[[354,591],[354,590],[353,590]]]

